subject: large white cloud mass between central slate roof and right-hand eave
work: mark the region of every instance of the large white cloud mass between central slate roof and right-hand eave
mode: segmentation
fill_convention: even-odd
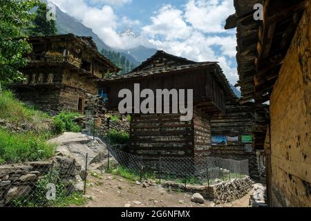
[[[232,84],[238,75],[232,61],[236,55],[236,35],[223,28],[223,22],[234,10],[228,1],[189,0],[185,10],[162,6],[151,17],[142,33],[152,44],[173,55],[194,61],[219,61]],[[220,15],[218,15],[220,13]]]

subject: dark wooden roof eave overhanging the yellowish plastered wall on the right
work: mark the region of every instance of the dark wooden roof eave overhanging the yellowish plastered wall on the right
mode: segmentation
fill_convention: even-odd
[[[254,41],[256,41],[256,48],[253,50],[254,52],[249,50],[252,49],[252,47],[247,50],[246,48],[243,48],[243,39],[238,40],[237,60],[238,70],[240,70],[238,72],[240,80],[236,86],[241,86],[241,91],[244,92],[243,97],[240,99],[243,103],[249,102],[252,99],[256,99],[256,103],[267,101],[267,98],[269,97],[269,93],[267,94],[267,92],[273,89],[274,83],[279,76],[279,71],[276,70],[283,64],[283,59],[290,46],[296,27],[299,25],[302,11],[308,6],[308,1],[290,3],[290,1],[266,0],[264,2],[264,19],[260,28],[258,28],[258,38],[254,38]],[[278,8],[278,10],[275,10],[275,8]],[[237,22],[247,21],[247,16],[249,15],[238,18]],[[290,23],[286,26],[282,35],[280,35],[278,25],[279,23],[287,21],[286,19],[288,19]],[[241,28],[243,28],[249,33],[247,35],[242,33],[243,35],[238,34],[237,36],[251,37],[252,27],[254,27],[254,25],[249,27],[250,28],[245,28],[245,26],[241,26],[241,24],[239,26],[239,23],[237,23],[238,32],[239,28],[240,31]],[[276,37],[280,37],[280,39],[276,39]],[[247,44],[251,46],[252,44],[250,43],[252,38],[246,40],[249,41]],[[277,46],[277,44],[280,46]],[[280,48],[280,51],[275,50],[275,48]],[[249,62],[253,62],[252,55],[256,55],[256,58],[254,59],[253,82],[252,79],[244,77],[246,69],[244,68],[244,70],[243,67],[241,67],[241,62],[247,61],[247,59],[249,59]],[[247,58],[247,56],[249,57]],[[252,75],[249,77],[252,77]],[[247,89],[249,87],[254,88],[253,92]]]

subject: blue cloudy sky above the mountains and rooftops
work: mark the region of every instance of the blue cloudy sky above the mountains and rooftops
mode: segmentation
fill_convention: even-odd
[[[194,61],[219,61],[232,84],[236,30],[224,30],[233,0],[50,0],[113,48],[147,46]],[[138,38],[121,37],[131,26]]]

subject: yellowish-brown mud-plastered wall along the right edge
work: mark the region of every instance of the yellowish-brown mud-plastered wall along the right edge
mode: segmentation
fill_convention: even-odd
[[[311,4],[270,101],[272,206],[311,206]]]

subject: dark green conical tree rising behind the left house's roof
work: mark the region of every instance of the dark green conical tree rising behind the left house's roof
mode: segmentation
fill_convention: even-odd
[[[48,20],[49,9],[46,3],[40,2],[39,7],[35,12],[35,19],[32,21],[32,27],[30,28],[30,35],[33,36],[45,36],[45,35],[56,35],[56,21],[53,19]]]

